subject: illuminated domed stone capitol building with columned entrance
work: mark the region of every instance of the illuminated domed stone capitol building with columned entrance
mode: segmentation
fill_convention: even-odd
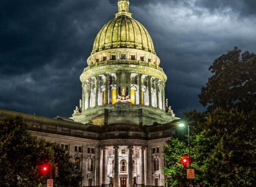
[[[109,176],[115,187],[131,187],[134,176],[138,184],[165,186],[163,150],[179,118],[165,98],[167,76],[149,32],[132,17],[128,0],[117,5],[82,70],[72,117],[0,115],[22,115],[32,135],[68,150],[84,175],[82,186],[108,184]]]

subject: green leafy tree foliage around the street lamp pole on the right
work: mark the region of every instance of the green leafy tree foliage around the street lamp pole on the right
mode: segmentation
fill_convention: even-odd
[[[198,116],[198,112],[192,112],[190,118],[196,125],[191,127],[190,136],[192,168],[196,173],[194,185],[253,186],[256,176],[256,112],[245,114],[234,109],[216,108],[204,113],[204,120]],[[172,186],[185,184],[185,172],[179,159],[186,153],[186,144],[175,138],[165,146],[167,167],[164,171]]]

